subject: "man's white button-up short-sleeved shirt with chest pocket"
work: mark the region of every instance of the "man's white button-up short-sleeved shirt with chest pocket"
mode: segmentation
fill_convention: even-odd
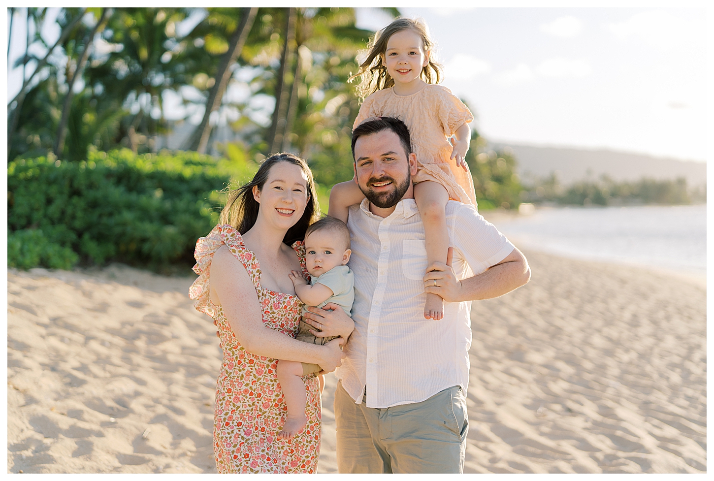
[[[513,244],[473,206],[446,205],[452,267],[459,279],[501,262]],[[357,403],[368,386],[368,407],[421,402],[439,391],[468,388],[471,301],[444,303],[444,317],[423,316],[427,260],[424,226],[416,202],[400,201],[390,216],[352,206],[347,226],[355,276],[355,330],[337,368],[342,386]]]

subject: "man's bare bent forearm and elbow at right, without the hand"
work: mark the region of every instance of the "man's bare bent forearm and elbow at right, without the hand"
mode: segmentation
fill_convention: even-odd
[[[531,279],[531,268],[520,250],[513,249],[501,263],[485,272],[460,281],[458,300],[482,300],[497,298],[510,293]]]

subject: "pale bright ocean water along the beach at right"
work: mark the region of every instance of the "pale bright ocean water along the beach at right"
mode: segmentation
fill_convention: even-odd
[[[706,206],[536,208],[492,222],[518,248],[706,274]]]

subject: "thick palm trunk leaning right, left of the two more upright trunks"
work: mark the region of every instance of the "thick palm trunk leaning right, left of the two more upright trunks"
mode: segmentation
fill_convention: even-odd
[[[248,39],[248,34],[253,27],[253,21],[255,21],[257,13],[257,6],[250,9],[241,9],[241,23],[238,25],[236,31],[233,32],[228,51],[223,56],[223,59],[221,59],[221,65],[218,66],[218,72],[216,73],[216,79],[218,81],[213,88],[211,88],[211,93],[208,95],[208,101],[206,102],[206,112],[203,113],[203,121],[201,121],[201,125],[198,126],[196,133],[193,135],[193,141],[189,147],[192,151],[195,150],[199,153],[206,153],[208,138],[211,136],[211,123],[208,119],[211,117],[211,112],[216,111],[218,107],[221,106],[223,93],[226,92],[228,81],[231,79],[231,66],[236,62],[238,56],[241,55],[241,51],[246,44],[246,39]]]

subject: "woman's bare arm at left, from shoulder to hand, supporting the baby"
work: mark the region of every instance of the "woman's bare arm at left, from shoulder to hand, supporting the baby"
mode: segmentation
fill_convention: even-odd
[[[341,365],[344,357],[339,348],[343,343],[341,339],[323,346],[313,345],[266,328],[255,286],[243,264],[225,246],[213,254],[210,285],[211,301],[223,307],[238,342],[249,352],[268,358],[314,363],[327,372]]]

